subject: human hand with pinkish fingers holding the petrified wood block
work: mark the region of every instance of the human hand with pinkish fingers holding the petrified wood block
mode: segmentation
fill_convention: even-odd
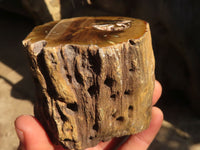
[[[153,105],[158,101],[161,92],[162,87],[160,83],[156,81],[153,93]],[[162,111],[153,106],[152,120],[149,128],[138,134],[129,136],[118,150],[146,150],[159,131],[162,121]],[[18,117],[15,121],[15,128],[20,140],[18,150],[64,150],[62,146],[55,147],[51,143],[41,124],[32,116],[23,115]],[[120,140],[121,138],[113,138],[108,142],[100,142],[97,146],[86,150],[112,150]]]

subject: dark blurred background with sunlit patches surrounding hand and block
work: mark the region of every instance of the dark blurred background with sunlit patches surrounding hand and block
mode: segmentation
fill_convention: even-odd
[[[0,0],[0,150],[16,150],[14,120],[36,99],[22,40],[34,26],[77,16],[126,16],[150,23],[157,104],[165,116],[150,150],[200,150],[200,1]]]

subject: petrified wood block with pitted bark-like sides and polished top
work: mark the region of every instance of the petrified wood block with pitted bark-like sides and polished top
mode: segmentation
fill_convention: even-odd
[[[35,27],[23,44],[35,116],[54,144],[81,150],[149,126],[154,55],[145,21],[65,19]]]

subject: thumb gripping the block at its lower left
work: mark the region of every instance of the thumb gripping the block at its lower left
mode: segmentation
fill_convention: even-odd
[[[15,129],[21,150],[54,150],[45,130],[32,116],[23,115],[15,120]]]

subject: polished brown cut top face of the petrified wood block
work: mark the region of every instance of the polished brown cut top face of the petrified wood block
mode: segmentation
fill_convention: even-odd
[[[138,39],[146,28],[145,21],[127,17],[71,18],[35,27],[24,44],[45,40],[48,47],[65,44],[104,47]]]

